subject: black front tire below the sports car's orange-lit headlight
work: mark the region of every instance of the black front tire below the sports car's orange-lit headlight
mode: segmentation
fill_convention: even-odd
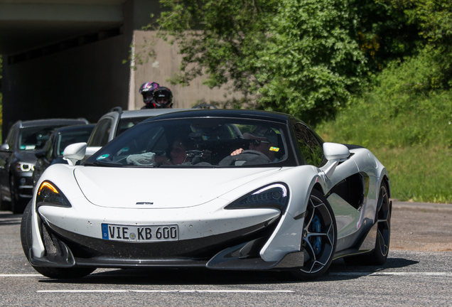
[[[25,257],[30,261],[30,248],[31,248],[31,200],[23,210],[22,222],[21,222],[21,242],[22,249],[25,253]],[[44,266],[33,266],[33,269],[38,273],[43,274],[46,277],[52,279],[77,279],[83,276],[87,276],[95,271],[96,268],[55,268]]]

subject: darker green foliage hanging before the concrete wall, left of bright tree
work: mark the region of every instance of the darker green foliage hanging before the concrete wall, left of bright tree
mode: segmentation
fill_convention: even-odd
[[[168,11],[158,19],[159,35],[177,42],[183,55],[182,72],[171,83],[188,85],[205,74],[205,85],[213,88],[232,82],[234,92],[244,97],[241,102],[249,102],[262,86],[255,77],[254,60],[268,40],[277,2],[161,0],[161,4]]]

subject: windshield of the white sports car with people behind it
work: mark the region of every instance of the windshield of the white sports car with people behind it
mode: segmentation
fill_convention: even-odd
[[[85,165],[256,166],[286,159],[284,125],[250,119],[144,122],[97,151]]]

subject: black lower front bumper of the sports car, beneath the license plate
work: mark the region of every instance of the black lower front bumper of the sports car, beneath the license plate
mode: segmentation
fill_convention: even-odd
[[[240,230],[196,239],[168,242],[117,242],[79,235],[38,217],[45,247],[43,257],[29,251],[33,266],[104,268],[207,267],[209,269],[295,269],[303,252],[265,262],[259,251],[279,225],[280,217]],[[45,222],[43,222],[43,220]]]

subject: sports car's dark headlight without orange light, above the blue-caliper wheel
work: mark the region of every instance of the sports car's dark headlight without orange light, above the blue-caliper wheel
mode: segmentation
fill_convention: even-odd
[[[260,188],[227,205],[225,209],[276,208],[284,212],[289,202],[289,189],[283,183]]]

